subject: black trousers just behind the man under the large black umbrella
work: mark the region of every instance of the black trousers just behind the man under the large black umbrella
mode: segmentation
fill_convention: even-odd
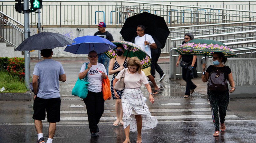
[[[159,52],[160,51],[160,52]],[[158,52],[154,51],[151,52],[151,65],[150,65],[150,73],[155,78],[155,69],[160,76],[164,74],[163,70],[160,68],[160,66],[157,64],[158,58],[161,55],[161,50],[159,49]]]

